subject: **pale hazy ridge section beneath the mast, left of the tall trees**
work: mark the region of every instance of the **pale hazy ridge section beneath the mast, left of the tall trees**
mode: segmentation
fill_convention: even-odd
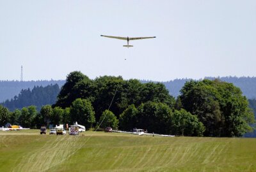
[[[32,90],[35,86],[45,87],[47,85],[58,84],[59,87],[65,83],[65,80],[38,80],[38,81],[0,81],[0,103],[7,99],[12,99],[14,96],[18,96],[22,89]]]

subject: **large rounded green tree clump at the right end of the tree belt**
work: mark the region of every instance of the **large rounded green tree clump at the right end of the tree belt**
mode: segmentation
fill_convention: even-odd
[[[180,90],[184,109],[205,125],[205,136],[241,136],[252,130],[252,111],[239,88],[220,80],[187,82]]]

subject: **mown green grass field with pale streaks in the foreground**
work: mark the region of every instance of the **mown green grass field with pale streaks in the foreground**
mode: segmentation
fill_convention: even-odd
[[[256,139],[0,132],[0,171],[256,171]]]

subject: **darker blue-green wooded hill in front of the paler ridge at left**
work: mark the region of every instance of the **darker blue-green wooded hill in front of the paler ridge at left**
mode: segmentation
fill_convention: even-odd
[[[58,84],[51,84],[46,87],[34,86],[32,90],[29,88],[22,89],[18,96],[14,96],[10,101],[7,99],[1,104],[10,111],[32,105],[36,106],[37,110],[40,110],[46,104],[54,104],[59,92],[60,88]]]

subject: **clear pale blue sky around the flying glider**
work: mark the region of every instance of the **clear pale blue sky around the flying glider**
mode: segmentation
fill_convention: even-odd
[[[256,1],[0,0],[0,80],[255,76],[255,57]]]

